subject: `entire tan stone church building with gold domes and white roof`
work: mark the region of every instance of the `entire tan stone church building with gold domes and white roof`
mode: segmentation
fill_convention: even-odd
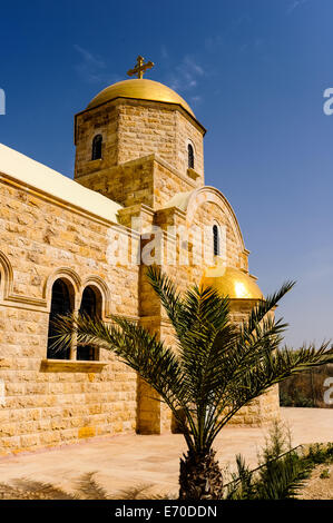
[[[124,315],[173,344],[147,259],[180,289],[228,294],[235,322],[262,298],[229,203],[205,186],[204,135],[183,98],[138,78],[76,115],[74,180],[0,146],[0,455],[177,430],[111,353],[50,348],[52,318],[67,312]],[[276,416],[273,388],[234,423]]]

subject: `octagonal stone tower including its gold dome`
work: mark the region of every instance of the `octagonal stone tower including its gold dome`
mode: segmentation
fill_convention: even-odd
[[[169,87],[148,79],[119,81],[75,117],[75,179],[121,205],[158,208],[179,190],[204,185],[205,132]],[[153,159],[172,176],[161,168],[157,179]]]

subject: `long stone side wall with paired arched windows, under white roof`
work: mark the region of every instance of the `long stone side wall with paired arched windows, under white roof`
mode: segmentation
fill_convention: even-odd
[[[52,282],[63,277],[79,308],[86,285],[102,314],[138,314],[138,268],[107,260],[111,224],[33,190],[0,184],[0,454],[134,432],[137,377],[107,365],[45,365]],[[78,366],[76,366],[78,365]]]

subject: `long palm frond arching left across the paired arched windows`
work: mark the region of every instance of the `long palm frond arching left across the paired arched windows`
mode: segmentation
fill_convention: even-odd
[[[195,424],[188,407],[188,391],[184,373],[174,351],[158,341],[156,334],[119,316],[112,316],[112,323],[86,315],[58,316],[55,320],[58,335],[53,343],[55,351],[61,351],[76,339],[79,345],[95,345],[114,352],[119,359],[136,371],[173,411],[179,422],[188,444],[190,435],[179,409],[186,412],[192,432]]]

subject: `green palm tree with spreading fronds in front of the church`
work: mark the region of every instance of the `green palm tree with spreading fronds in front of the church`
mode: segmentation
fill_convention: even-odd
[[[229,299],[213,288],[189,287],[184,295],[159,268],[147,270],[174,327],[177,347],[135,322],[114,316],[104,323],[88,316],[56,320],[55,347],[78,344],[112,351],[135,369],[172,409],[184,434],[187,453],[180,457],[179,499],[222,497],[223,476],[213,443],[226,423],[252,399],[307,367],[333,362],[333,348],[305,346],[297,353],[280,348],[286,328],[272,312],[293,287],[261,300],[241,326],[231,320]]]

